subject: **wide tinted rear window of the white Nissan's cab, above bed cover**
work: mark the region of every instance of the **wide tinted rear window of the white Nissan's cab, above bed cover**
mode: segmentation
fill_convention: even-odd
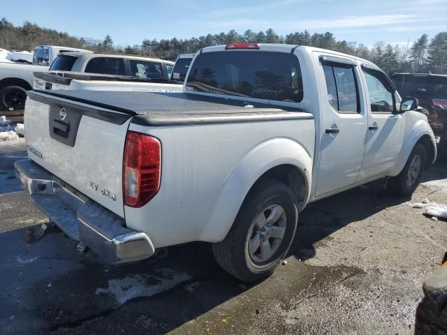
[[[284,52],[204,52],[198,54],[193,63],[186,89],[229,96],[300,102],[300,64],[295,55]]]

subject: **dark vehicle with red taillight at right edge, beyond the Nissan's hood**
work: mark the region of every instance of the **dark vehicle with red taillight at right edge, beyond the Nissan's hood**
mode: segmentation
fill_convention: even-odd
[[[418,98],[428,110],[428,122],[439,147],[447,152],[447,75],[396,73],[391,77],[402,96]]]

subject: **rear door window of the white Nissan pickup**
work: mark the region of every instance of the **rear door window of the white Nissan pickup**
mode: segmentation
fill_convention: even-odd
[[[323,64],[328,89],[328,101],[332,108],[343,113],[357,113],[358,89],[354,68],[345,64]]]

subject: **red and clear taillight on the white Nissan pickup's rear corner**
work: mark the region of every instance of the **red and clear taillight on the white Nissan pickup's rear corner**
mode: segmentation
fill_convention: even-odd
[[[161,143],[155,137],[129,131],[124,149],[124,204],[141,207],[160,188]]]

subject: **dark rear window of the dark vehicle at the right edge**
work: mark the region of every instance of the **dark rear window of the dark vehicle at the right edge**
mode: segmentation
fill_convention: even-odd
[[[401,96],[447,98],[447,76],[393,75],[391,80]]]

